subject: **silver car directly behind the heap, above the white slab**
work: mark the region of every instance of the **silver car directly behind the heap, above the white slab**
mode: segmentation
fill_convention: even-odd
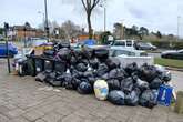
[[[145,51],[139,51],[134,49],[128,49],[128,48],[120,48],[120,47],[111,47],[110,50],[111,57],[118,57],[118,55],[128,55],[128,57],[146,57],[148,53]]]

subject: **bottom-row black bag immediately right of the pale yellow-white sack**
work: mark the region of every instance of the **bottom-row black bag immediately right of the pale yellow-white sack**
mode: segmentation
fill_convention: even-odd
[[[124,105],[124,93],[123,91],[113,90],[109,93],[108,100],[115,105]]]

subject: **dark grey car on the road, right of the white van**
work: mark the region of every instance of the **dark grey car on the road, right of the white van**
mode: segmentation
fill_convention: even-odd
[[[138,42],[134,44],[136,50],[156,50],[157,48],[149,42]]]

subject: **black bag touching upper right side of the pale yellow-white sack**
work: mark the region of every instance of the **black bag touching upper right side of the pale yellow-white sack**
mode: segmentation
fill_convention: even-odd
[[[121,85],[120,85],[120,81],[118,79],[110,79],[106,80],[108,85],[109,85],[109,90],[120,90]]]

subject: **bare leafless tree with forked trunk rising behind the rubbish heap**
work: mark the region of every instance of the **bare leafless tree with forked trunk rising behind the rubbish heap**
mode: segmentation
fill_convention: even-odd
[[[94,8],[96,8],[101,1],[102,0],[81,0],[82,4],[84,7],[85,13],[87,13],[89,39],[92,39],[92,37],[93,37],[93,30],[92,30],[92,24],[91,24],[91,14],[92,14],[92,11],[94,10]]]

